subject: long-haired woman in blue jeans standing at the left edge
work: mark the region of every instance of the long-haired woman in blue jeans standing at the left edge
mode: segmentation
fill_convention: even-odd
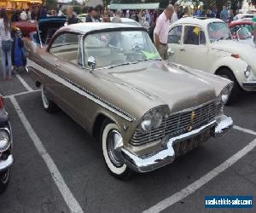
[[[2,71],[3,80],[11,79],[12,58],[11,58],[11,23],[5,12],[5,9],[0,11],[0,45],[2,53]]]

